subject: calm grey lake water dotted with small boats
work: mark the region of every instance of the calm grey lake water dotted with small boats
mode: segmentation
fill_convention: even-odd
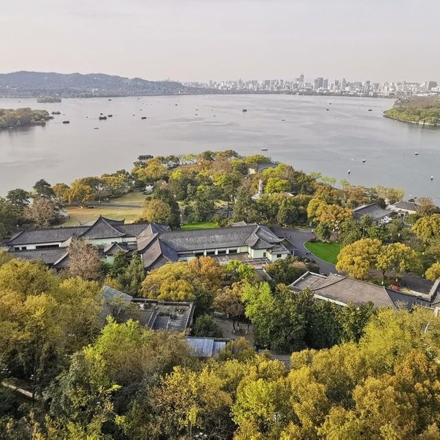
[[[439,200],[440,129],[383,118],[382,111],[391,105],[388,99],[286,95],[65,99],[55,104],[0,99],[3,108],[62,113],[45,127],[0,132],[0,194],[29,189],[40,178],[69,183],[131,169],[139,154],[234,149],[248,155],[267,148],[263,154],[297,169],[352,184],[401,187],[407,197]],[[101,112],[113,118],[99,121]],[[70,124],[64,125],[65,120]]]

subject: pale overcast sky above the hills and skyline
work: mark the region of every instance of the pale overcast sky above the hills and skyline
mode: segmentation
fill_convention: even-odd
[[[0,72],[440,80],[440,0],[0,0]]]

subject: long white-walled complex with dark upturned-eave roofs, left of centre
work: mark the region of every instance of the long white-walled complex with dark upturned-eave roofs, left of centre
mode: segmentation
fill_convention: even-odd
[[[171,231],[163,224],[126,224],[124,220],[102,216],[74,227],[25,229],[3,242],[3,248],[16,258],[43,260],[53,269],[62,270],[69,264],[69,244],[74,238],[87,240],[109,264],[118,251],[127,258],[137,252],[146,271],[203,255],[218,258],[220,262],[240,260],[258,266],[294,253],[286,238],[277,237],[260,224]]]

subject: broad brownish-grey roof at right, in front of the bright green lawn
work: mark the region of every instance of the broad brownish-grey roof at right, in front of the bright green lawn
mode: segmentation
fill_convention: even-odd
[[[307,272],[289,287],[293,291],[302,291],[308,288],[317,299],[329,300],[340,305],[349,304],[349,302],[354,304],[372,302],[375,307],[397,308],[403,305],[406,308],[412,308],[422,300],[416,295],[393,291],[384,286],[353,280],[353,278],[335,273],[325,276]]]

